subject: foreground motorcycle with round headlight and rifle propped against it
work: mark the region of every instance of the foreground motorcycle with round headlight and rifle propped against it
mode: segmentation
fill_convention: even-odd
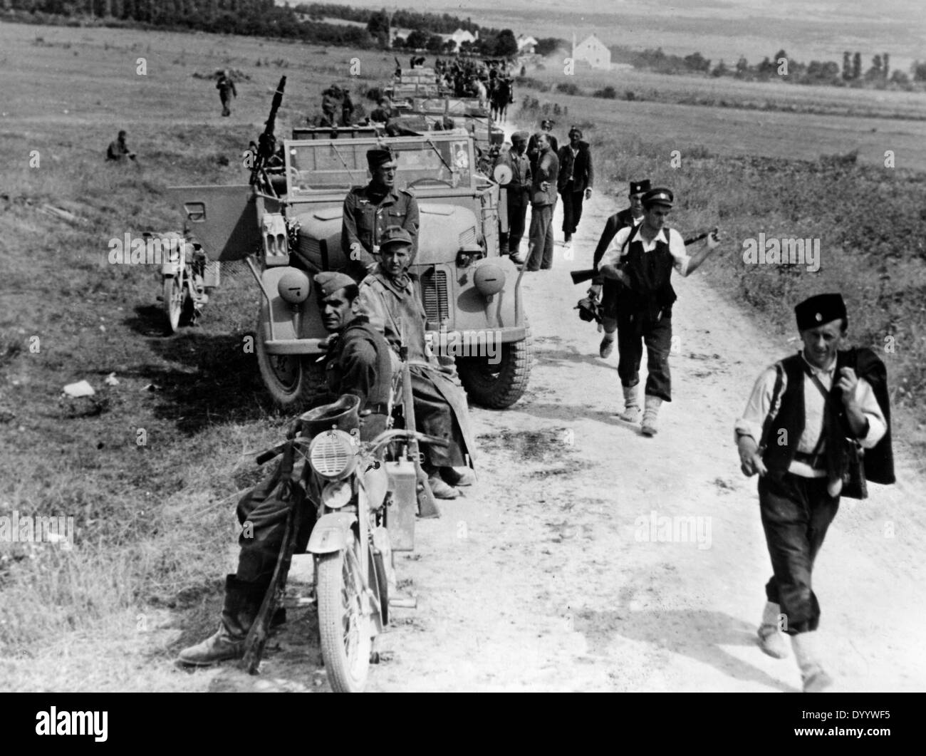
[[[302,528],[314,509],[307,552],[314,555],[319,646],[335,692],[366,687],[373,639],[389,623],[394,551],[414,549],[419,507],[419,442],[444,439],[412,429],[385,430],[371,441],[358,433],[359,399],[338,401],[299,416],[287,440],[257,457],[283,455],[282,478],[291,481],[283,548],[257,619],[245,641],[243,668],[254,674],[282,601]],[[297,458],[305,460],[301,473]]]

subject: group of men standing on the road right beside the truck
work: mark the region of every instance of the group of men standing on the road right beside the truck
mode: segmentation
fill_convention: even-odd
[[[541,130],[515,132],[511,149],[499,159],[511,170],[507,184],[507,253],[528,271],[549,270],[553,266],[553,214],[557,195],[563,202],[563,245],[569,248],[572,234],[582,219],[582,203],[592,195],[594,164],[582,129],[569,130],[569,144],[558,146],[550,130],[552,120],[543,120]],[[520,254],[527,208],[531,207],[528,252]]]

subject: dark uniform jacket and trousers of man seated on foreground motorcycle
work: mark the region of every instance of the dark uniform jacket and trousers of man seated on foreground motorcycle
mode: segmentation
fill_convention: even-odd
[[[386,405],[392,390],[392,350],[382,334],[364,317],[349,322],[332,342],[327,355],[325,374],[332,394],[354,394],[360,397],[361,440],[368,441],[385,429]],[[369,414],[368,414],[369,413]],[[305,465],[299,458],[294,465],[298,478]],[[238,502],[238,522],[250,523],[243,529],[238,542],[237,577],[247,583],[267,586],[282,547],[283,532],[289,501],[284,497],[282,463],[278,462],[269,477],[248,491]],[[309,498],[319,491],[309,490]],[[315,524],[315,509],[308,506],[303,516],[297,550],[305,548]]]

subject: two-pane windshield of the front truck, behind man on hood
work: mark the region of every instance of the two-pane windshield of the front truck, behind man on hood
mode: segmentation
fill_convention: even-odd
[[[339,140],[337,145],[290,145],[288,154],[289,191],[293,195],[344,191],[369,182],[367,150],[374,145]],[[390,147],[398,163],[395,185],[444,183],[469,186],[469,141],[460,139],[422,139]]]

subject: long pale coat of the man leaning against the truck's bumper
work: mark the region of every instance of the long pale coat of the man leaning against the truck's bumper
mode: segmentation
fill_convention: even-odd
[[[433,467],[465,465],[464,455],[469,454],[472,459],[476,448],[469,428],[466,394],[455,380],[456,375],[444,372],[437,359],[426,351],[427,316],[411,278],[405,275],[394,282],[382,271],[370,273],[360,283],[360,311],[369,317],[373,327],[382,331],[394,354],[398,354],[405,337],[416,427],[420,433],[451,442],[445,448],[422,444],[428,462]]]

